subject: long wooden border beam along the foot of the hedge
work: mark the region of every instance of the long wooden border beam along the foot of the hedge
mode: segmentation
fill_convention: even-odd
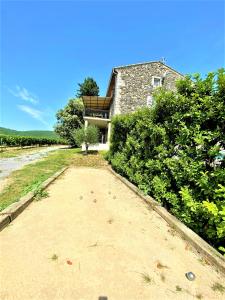
[[[157,212],[173,229],[175,229],[181,236],[189,242],[194,249],[197,250],[204,258],[207,259],[212,265],[216,266],[222,273],[225,274],[225,258],[216,249],[210,246],[203,240],[197,233],[184,225],[175,216],[171,215],[159,202],[150,196],[145,196],[141,191],[130,181],[115,172],[110,165],[107,169],[120,181],[122,181],[129,189],[136,195],[140,196],[145,203],[147,203],[155,212]]]

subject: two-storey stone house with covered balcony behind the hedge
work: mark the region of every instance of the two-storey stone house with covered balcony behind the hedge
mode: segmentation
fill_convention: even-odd
[[[176,80],[183,75],[160,61],[115,67],[112,70],[106,97],[83,96],[85,126],[100,130],[98,145],[93,150],[109,149],[111,118],[153,105],[153,90],[165,87],[175,90]]]

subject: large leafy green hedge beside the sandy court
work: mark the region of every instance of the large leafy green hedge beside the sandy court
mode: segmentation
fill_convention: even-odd
[[[225,71],[159,89],[151,109],[115,116],[112,167],[219,250],[225,247]],[[224,249],[225,250],[225,249]]]

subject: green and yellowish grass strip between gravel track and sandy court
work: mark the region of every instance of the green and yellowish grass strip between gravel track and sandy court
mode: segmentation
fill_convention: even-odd
[[[9,185],[0,193],[0,211],[28,192],[37,189],[43,181],[69,165],[102,167],[106,162],[103,154],[83,155],[80,149],[52,151],[46,158],[12,173]]]

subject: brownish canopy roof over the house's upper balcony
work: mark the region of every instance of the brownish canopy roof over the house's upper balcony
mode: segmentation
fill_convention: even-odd
[[[109,110],[112,97],[83,96],[85,109]]]

